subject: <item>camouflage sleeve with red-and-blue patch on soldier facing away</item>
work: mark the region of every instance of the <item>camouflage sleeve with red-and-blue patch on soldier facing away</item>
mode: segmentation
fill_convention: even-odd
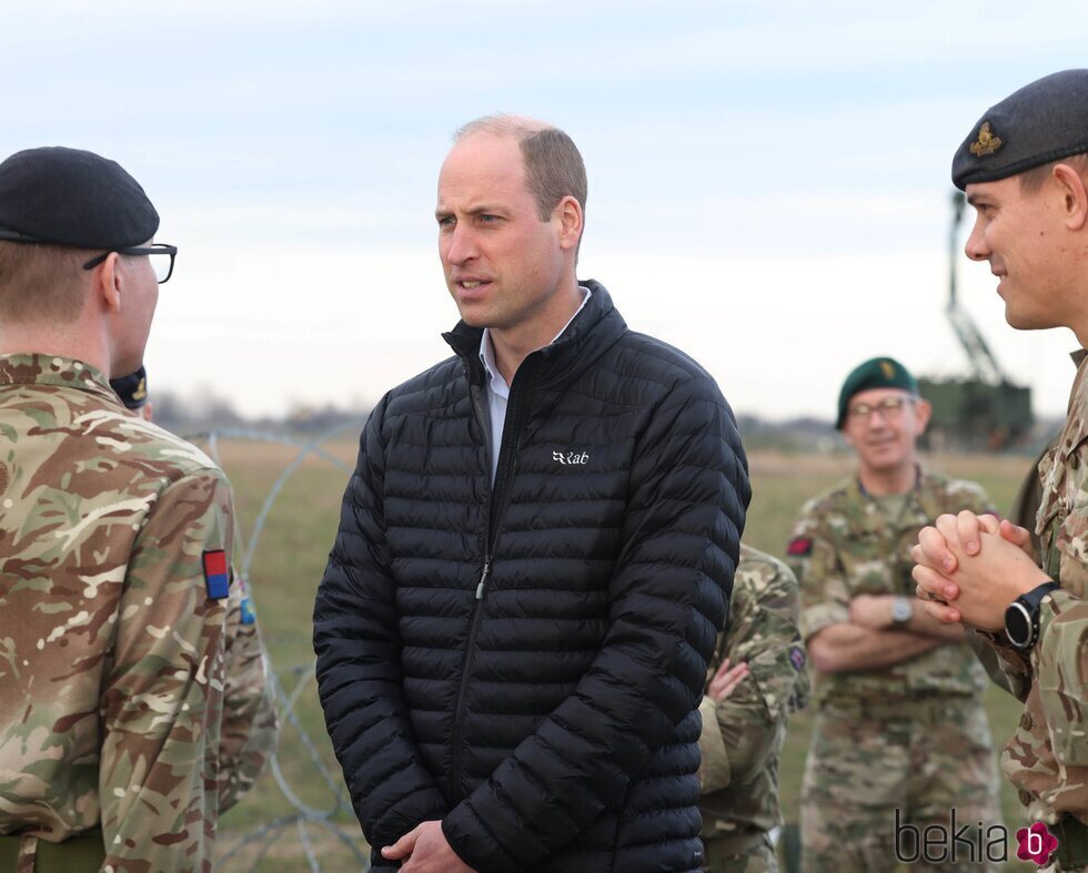
[[[203,556],[229,559],[232,534],[230,486],[202,470],[167,486],[137,535],[101,702],[104,869],[117,873],[212,863],[226,598]]]

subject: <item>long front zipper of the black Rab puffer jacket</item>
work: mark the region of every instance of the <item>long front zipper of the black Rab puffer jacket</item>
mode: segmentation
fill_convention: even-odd
[[[450,768],[450,793],[451,803],[460,803],[465,796],[465,789],[462,784],[462,745],[464,733],[464,714],[467,703],[469,676],[472,671],[473,656],[476,651],[476,636],[480,632],[480,623],[483,620],[484,595],[487,591],[487,579],[491,576],[491,565],[498,545],[498,527],[503,515],[506,512],[506,503],[510,497],[510,486],[514,480],[514,470],[517,467],[517,438],[524,427],[525,410],[528,408],[526,383],[532,375],[535,356],[530,356],[522,362],[514,374],[514,382],[510,386],[510,399],[507,400],[506,422],[503,425],[503,441],[498,451],[498,469],[495,473],[495,485],[490,490],[487,505],[487,534],[484,540],[484,566],[480,572],[480,581],[476,585],[476,597],[472,606],[472,623],[469,626],[469,640],[465,643],[465,661],[461,672],[461,687],[457,690],[457,708],[453,722],[453,761]],[[484,433],[484,439],[491,444],[490,430],[485,427],[486,420],[483,410],[480,408],[480,394],[473,392],[472,408]],[[488,453],[488,461],[491,460]],[[491,470],[485,475],[490,479]]]

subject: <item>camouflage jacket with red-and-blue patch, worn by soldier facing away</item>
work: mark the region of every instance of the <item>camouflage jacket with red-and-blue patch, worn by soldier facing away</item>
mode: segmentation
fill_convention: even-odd
[[[115,873],[210,870],[275,733],[230,486],[48,355],[0,356],[0,833],[101,825]]]

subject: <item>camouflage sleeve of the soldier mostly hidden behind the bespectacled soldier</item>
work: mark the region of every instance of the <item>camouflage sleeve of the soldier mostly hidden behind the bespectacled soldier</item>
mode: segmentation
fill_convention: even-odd
[[[224,812],[252,788],[275,750],[272,682],[245,580],[234,577],[226,612],[226,681],[219,744],[219,804]]]

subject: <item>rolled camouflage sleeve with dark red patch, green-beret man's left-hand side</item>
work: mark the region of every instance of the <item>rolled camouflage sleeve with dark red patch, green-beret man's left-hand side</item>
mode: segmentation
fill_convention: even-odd
[[[815,506],[802,509],[786,549],[786,562],[800,582],[800,635],[806,641],[832,625],[850,620],[850,590],[835,545],[823,531]]]

